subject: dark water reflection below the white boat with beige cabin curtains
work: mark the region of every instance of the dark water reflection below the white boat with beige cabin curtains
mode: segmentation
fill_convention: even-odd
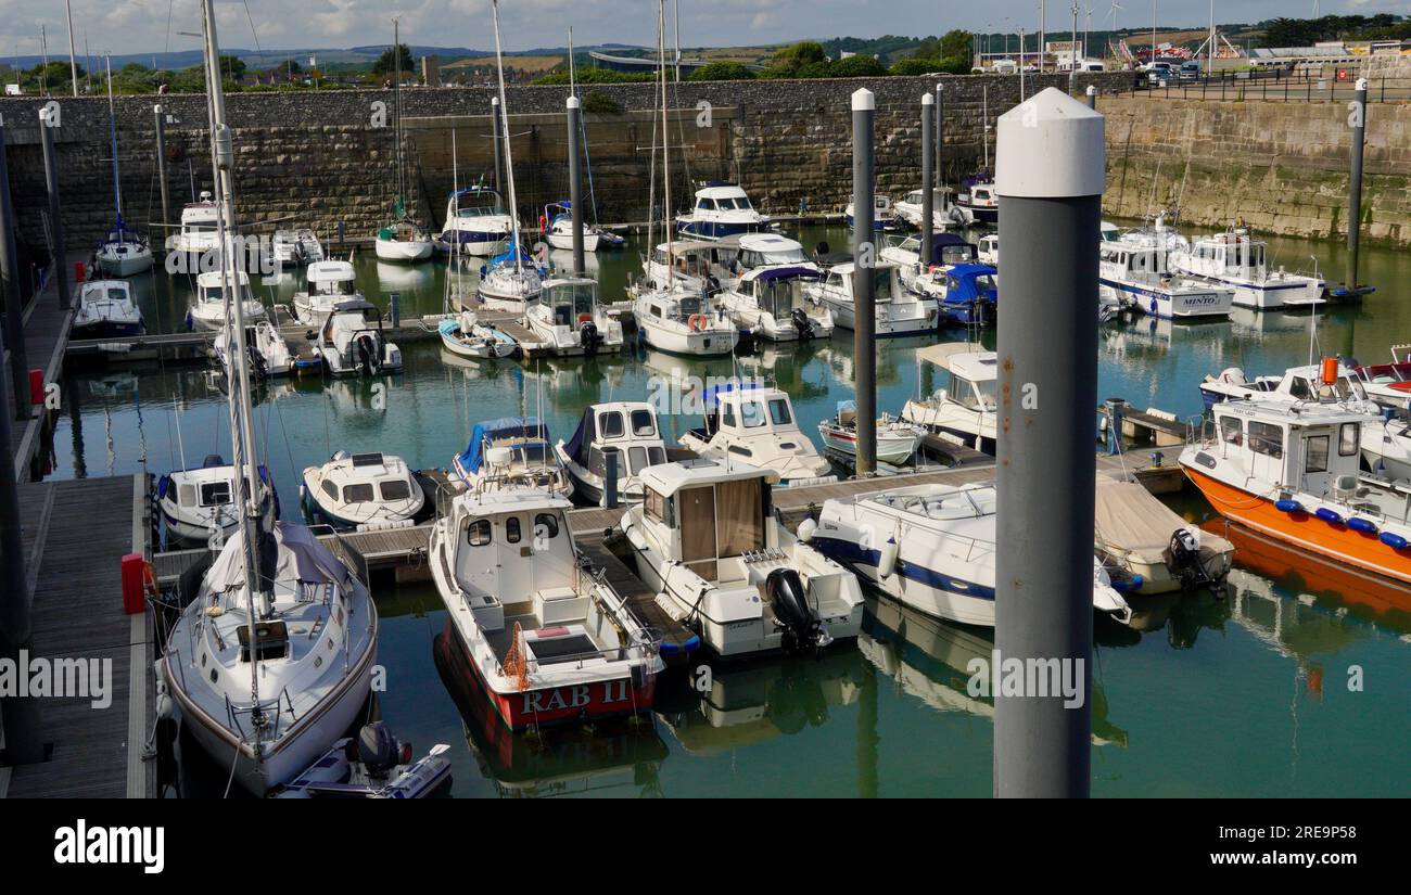
[[[869,677],[852,648],[697,665],[689,678],[672,679],[674,686],[663,679],[655,708],[687,753],[714,755],[821,727],[832,709],[858,702]]]

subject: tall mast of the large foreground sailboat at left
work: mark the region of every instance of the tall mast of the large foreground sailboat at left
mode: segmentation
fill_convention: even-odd
[[[234,179],[231,168],[234,165],[234,147],[231,145],[230,128],[226,125],[226,94],[220,83],[220,54],[216,39],[216,11],[213,0],[202,0],[202,23],[206,37],[206,78],[210,90],[210,151],[216,163],[216,202],[219,209],[219,247],[222,295],[227,309],[234,310],[236,327],[236,357],[231,358],[230,375],[230,403],[231,419],[238,420],[238,428],[231,430],[231,447],[236,452],[236,482],[240,499],[240,533],[244,541],[246,560],[246,610],[250,623],[250,699],[251,706],[260,705],[260,661],[258,640],[255,637],[255,589],[260,586],[257,554],[257,519],[260,514],[260,500],[255,492],[260,489],[260,471],[255,464],[254,427],[250,414],[250,357],[246,354],[246,307],[244,295],[240,290],[240,276],[234,258],[234,230],[236,203]],[[229,320],[229,317],[227,317]],[[261,760],[260,736],[253,733],[251,751],[255,761]]]

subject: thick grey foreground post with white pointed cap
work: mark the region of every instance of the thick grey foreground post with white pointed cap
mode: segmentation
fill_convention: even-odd
[[[1092,677],[1094,434],[1103,120],[1048,87],[999,118],[999,451],[995,653],[1078,689],[995,688],[995,795],[1086,796]],[[1057,661],[1054,661],[1057,660]],[[1058,678],[1061,682],[1061,677]]]

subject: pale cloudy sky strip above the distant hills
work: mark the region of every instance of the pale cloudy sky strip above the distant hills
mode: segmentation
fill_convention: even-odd
[[[71,0],[78,52],[83,41],[99,55],[195,49],[196,0]],[[1118,23],[1150,25],[1151,0],[1118,0]],[[1079,0],[1084,4],[1084,0]],[[682,44],[727,47],[770,44],[804,37],[878,37],[938,34],[950,28],[1036,31],[1038,0],[680,0]],[[1110,21],[1112,0],[1086,0],[1092,27]],[[1322,0],[1324,14],[1407,13],[1405,0]],[[1225,0],[1216,21],[1307,17],[1312,0]],[[667,0],[670,16],[672,0]],[[1204,25],[1208,0],[1157,0],[1161,25]],[[440,47],[494,47],[490,0],[216,0],[220,42],[254,48],[356,47],[391,41],[394,14],[402,37]],[[248,10],[248,16],[247,16]],[[1048,0],[1050,31],[1072,27],[1071,0]],[[40,52],[40,25],[48,31],[51,56],[68,54],[63,0],[0,0],[6,34],[0,56]],[[562,47],[567,27],[580,44],[655,44],[656,0],[501,0],[507,49]]]

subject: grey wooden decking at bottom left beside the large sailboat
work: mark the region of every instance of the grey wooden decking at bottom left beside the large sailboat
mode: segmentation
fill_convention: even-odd
[[[23,485],[20,493],[35,582],[35,657],[96,658],[110,662],[111,677],[106,708],[93,708],[89,696],[40,700],[41,740],[54,750],[48,761],[13,768],[8,795],[124,798],[130,748],[143,747],[130,736],[133,685],[145,693],[148,675],[145,658],[134,667],[133,657],[151,654],[143,638],[133,644],[134,620],[123,612],[120,584],[123,555],[133,553],[134,534],[144,537],[137,521],[141,489],[134,476],[123,475],[38,482]],[[134,674],[140,675],[135,682]],[[144,710],[138,729],[145,723]],[[137,788],[151,792],[145,779]]]

